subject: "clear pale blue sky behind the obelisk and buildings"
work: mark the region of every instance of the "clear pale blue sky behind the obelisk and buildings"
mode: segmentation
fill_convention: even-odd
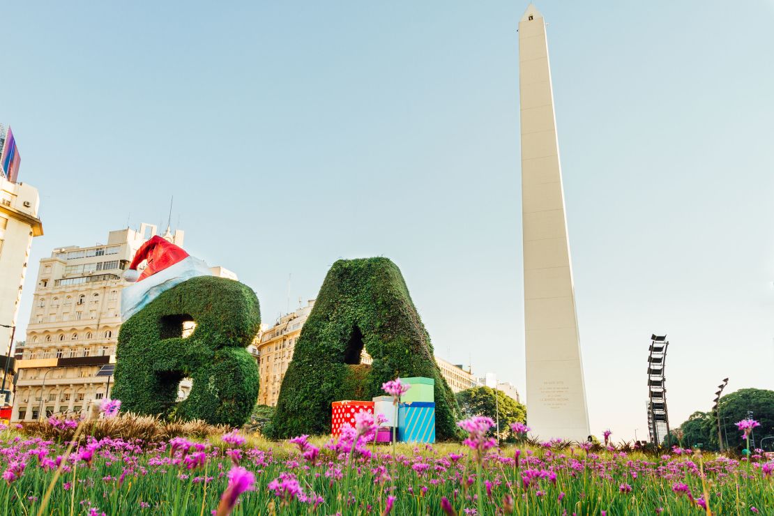
[[[774,2],[538,2],[594,433],[774,388]],[[524,384],[518,46],[526,2],[15,2],[0,121],[39,258],[166,221],[265,322],[337,258],[401,268],[437,354]],[[131,215],[130,215],[131,214]]]

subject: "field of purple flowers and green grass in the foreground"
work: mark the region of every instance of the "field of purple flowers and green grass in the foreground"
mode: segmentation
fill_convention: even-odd
[[[353,429],[337,441],[300,436],[282,443],[238,432],[160,443],[87,437],[69,456],[67,442],[5,429],[0,506],[2,514],[774,511],[774,463],[761,456],[748,462],[683,449],[645,456],[557,442],[498,447],[477,434],[480,428],[465,429],[464,444],[398,444],[394,454]]]

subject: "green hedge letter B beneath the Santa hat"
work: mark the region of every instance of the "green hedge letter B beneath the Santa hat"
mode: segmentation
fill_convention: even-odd
[[[186,321],[197,326],[183,339]],[[241,426],[258,398],[258,366],[245,348],[260,323],[247,285],[214,276],[180,283],[121,326],[113,395],[127,412]],[[176,403],[183,378],[193,385]]]

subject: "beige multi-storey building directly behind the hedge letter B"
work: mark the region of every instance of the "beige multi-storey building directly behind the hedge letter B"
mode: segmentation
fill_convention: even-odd
[[[121,327],[126,265],[156,226],[111,231],[106,244],[56,248],[40,260],[26,342],[19,351],[12,421],[78,414],[107,397]],[[183,231],[164,237],[183,244]]]

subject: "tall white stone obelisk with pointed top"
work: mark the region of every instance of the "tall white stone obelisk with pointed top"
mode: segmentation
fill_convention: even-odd
[[[519,22],[527,424],[541,439],[589,435],[570,241],[564,214],[546,24]]]

